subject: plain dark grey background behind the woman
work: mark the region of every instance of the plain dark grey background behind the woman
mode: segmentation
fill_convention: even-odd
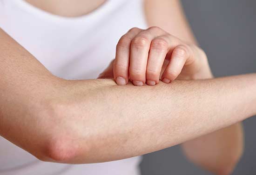
[[[182,0],[215,76],[256,72],[256,0]],[[256,175],[256,118],[243,122],[245,152],[233,175]],[[179,146],[144,156],[142,175],[209,175]]]

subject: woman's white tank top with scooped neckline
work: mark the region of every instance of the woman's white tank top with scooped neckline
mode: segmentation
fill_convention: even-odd
[[[107,0],[74,18],[24,0],[0,0],[0,28],[65,79],[96,78],[114,59],[119,38],[135,26],[147,27],[142,0]],[[140,157],[83,165],[41,162],[0,137],[0,175],[139,175],[139,162]]]

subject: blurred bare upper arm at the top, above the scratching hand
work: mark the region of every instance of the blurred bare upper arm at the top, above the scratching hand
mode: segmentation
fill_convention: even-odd
[[[161,2],[160,2],[161,1]],[[158,26],[190,44],[197,44],[180,0],[145,0],[149,26]]]

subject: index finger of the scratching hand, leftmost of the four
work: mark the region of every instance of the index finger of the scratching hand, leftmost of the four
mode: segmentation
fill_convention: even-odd
[[[116,45],[114,62],[114,79],[118,85],[125,85],[129,79],[130,45],[132,39],[142,31],[139,28],[132,28],[123,35]]]

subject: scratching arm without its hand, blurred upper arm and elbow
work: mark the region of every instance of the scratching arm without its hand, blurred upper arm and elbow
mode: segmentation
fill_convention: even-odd
[[[145,0],[149,26],[158,26],[191,44],[197,44],[179,0]],[[213,78],[211,74],[208,78]],[[202,76],[205,78],[205,75]],[[195,164],[217,175],[229,175],[243,153],[241,123],[182,144],[184,154]]]

